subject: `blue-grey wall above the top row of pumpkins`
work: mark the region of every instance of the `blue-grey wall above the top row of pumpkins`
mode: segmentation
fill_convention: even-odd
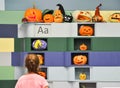
[[[119,10],[120,0],[5,0],[5,10],[25,10],[32,7],[33,2],[41,9],[56,9],[61,3],[65,10],[94,10],[102,3],[101,10]]]

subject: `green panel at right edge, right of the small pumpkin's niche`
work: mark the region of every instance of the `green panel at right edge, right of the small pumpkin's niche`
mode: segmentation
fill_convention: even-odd
[[[96,37],[92,38],[93,51],[120,51],[119,37]]]

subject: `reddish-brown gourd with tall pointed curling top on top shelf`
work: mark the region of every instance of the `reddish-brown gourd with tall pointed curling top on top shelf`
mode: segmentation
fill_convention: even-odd
[[[96,10],[95,10],[95,14],[94,16],[92,17],[92,21],[93,22],[103,22],[103,17],[100,15],[100,10],[99,10],[99,7],[102,6],[102,4],[99,4],[97,7],[96,7]]]

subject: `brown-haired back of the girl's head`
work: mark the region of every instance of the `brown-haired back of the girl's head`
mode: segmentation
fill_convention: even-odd
[[[28,72],[38,72],[39,67],[39,58],[36,54],[28,54],[25,58],[25,66],[28,69]]]

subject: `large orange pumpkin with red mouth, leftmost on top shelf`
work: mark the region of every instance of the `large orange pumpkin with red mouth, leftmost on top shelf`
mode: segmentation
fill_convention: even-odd
[[[24,18],[28,20],[28,22],[42,22],[42,11],[35,8],[28,8],[25,11]]]

